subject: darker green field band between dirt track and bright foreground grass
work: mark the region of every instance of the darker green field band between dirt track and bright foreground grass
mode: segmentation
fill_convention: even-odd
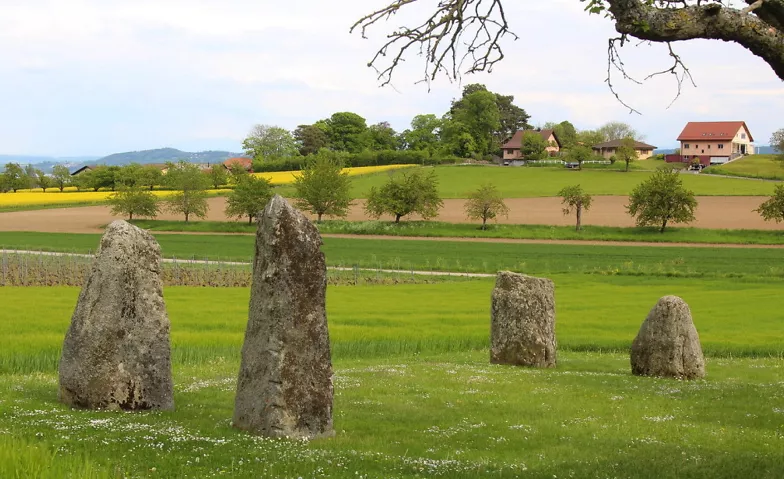
[[[158,234],[167,257],[251,261],[253,236]],[[86,253],[100,235],[0,232],[0,248]],[[492,273],[784,277],[784,249],[641,247],[324,238],[331,266]]]

